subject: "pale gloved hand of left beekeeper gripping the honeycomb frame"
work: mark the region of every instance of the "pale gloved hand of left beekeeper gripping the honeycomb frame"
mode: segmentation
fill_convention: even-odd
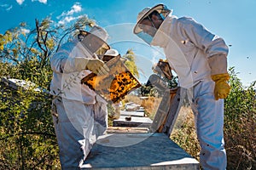
[[[108,74],[108,66],[101,59],[75,58],[74,65],[76,70],[90,70],[96,75]]]

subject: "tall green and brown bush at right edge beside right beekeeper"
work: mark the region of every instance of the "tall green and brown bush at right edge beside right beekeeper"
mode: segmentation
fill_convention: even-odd
[[[229,169],[256,169],[256,81],[242,86],[230,68],[230,94],[224,105],[224,137]]]

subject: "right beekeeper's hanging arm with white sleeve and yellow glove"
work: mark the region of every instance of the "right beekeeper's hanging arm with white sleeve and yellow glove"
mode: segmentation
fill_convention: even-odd
[[[196,47],[201,48],[207,54],[208,64],[211,68],[211,77],[215,82],[215,99],[225,99],[230,93],[227,71],[227,54],[229,48],[224,40],[207,31],[206,28],[193,20],[186,20],[184,31]]]

